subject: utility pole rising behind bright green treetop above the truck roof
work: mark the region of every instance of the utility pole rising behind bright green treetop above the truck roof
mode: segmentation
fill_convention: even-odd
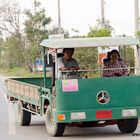
[[[105,10],[104,10],[104,0],[101,0],[101,28],[105,28]]]

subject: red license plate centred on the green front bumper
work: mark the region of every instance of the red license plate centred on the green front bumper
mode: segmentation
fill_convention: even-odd
[[[98,119],[112,118],[112,110],[97,110],[96,118]]]

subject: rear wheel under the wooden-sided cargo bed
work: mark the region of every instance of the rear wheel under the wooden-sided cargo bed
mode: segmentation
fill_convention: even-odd
[[[31,112],[28,112],[23,107],[26,108],[27,105],[23,104],[22,101],[18,101],[18,117],[20,126],[28,126],[31,122]]]

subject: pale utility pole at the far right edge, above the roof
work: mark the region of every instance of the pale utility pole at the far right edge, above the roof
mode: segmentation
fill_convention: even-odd
[[[139,31],[139,0],[135,0],[135,33]]]

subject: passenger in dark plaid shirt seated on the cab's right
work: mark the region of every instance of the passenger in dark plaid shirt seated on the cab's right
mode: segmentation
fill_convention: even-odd
[[[110,60],[104,65],[102,74],[103,77],[119,77],[129,75],[126,64],[124,64],[124,62],[122,60],[120,61],[119,59],[119,52],[117,50],[112,50],[110,52]]]

